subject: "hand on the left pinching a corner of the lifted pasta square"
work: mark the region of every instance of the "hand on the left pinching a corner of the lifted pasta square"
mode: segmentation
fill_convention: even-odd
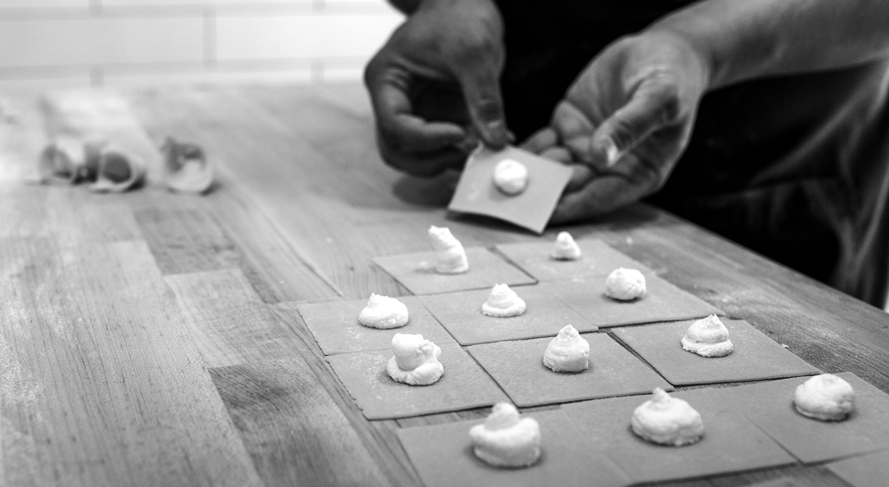
[[[502,37],[493,0],[422,0],[364,71],[388,164],[435,176],[460,168],[479,141],[507,144]]]

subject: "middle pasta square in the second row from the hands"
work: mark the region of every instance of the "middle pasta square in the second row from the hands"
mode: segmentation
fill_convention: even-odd
[[[509,318],[482,313],[490,288],[421,296],[420,300],[461,345],[553,337],[567,324],[581,332],[598,330],[540,285],[516,286],[512,290],[525,300],[525,314]]]

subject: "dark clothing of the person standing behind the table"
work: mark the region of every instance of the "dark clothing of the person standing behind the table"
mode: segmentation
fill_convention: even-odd
[[[509,128],[548,124],[597,52],[681,0],[502,0]],[[729,86],[649,201],[883,307],[889,278],[889,61]]]

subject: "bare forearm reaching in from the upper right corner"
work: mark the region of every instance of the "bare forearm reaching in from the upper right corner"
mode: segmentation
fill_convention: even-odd
[[[887,0],[707,0],[648,30],[683,37],[717,88],[889,56]]]

